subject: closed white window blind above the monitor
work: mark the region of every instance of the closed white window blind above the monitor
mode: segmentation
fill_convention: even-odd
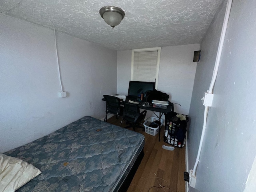
[[[155,82],[158,50],[134,52],[134,81]]]

